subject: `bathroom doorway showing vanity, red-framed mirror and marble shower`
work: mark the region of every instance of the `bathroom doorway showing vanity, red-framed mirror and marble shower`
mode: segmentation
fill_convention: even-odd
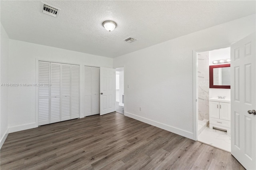
[[[230,47],[198,52],[196,58],[197,140],[230,152],[230,84],[224,87],[231,77]]]

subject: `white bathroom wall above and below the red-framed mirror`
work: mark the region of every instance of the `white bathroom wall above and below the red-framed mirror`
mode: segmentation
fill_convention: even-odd
[[[212,63],[212,61],[214,60],[228,59],[228,58],[230,58],[230,47],[209,51],[209,65],[215,65]],[[226,99],[230,99],[230,89],[210,88],[209,98],[217,97],[217,96],[225,96]]]

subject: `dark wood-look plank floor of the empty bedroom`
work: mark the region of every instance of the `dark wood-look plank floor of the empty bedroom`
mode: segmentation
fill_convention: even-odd
[[[125,117],[94,115],[10,133],[5,169],[244,169],[228,152]]]

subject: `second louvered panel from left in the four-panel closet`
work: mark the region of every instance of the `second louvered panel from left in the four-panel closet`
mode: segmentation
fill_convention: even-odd
[[[50,123],[60,122],[60,63],[50,63]]]

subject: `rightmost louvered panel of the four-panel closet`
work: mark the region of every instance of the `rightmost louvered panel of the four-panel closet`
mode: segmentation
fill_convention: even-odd
[[[71,119],[79,118],[79,65],[71,65]]]

